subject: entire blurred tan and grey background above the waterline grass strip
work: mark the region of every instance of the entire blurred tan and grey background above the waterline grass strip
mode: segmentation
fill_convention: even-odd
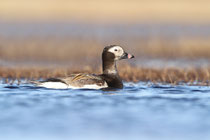
[[[209,0],[1,0],[0,66],[90,67],[117,44],[144,68],[209,67]],[[123,62],[122,62],[123,63]]]

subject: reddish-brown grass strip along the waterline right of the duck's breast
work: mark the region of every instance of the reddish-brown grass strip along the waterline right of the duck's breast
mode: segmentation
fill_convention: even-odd
[[[126,81],[209,85],[210,68],[135,68],[124,66],[120,75]]]

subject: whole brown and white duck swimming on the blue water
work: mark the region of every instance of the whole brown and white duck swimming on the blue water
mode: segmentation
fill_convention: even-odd
[[[116,62],[122,59],[132,59],[131,55],[119,45],[109,45],[102,52],[102,74],[78,73],[64,78],[49,78],[33,82],[38,87],[50,89],[122,89],[123,82],[119,76]]]

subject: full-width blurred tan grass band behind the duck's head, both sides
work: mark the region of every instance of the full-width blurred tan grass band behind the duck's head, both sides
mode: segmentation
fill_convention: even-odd
[[[210,58],[209,38],[130,39],[122,45],[137,58]],[[104,45],[94,38],[26,38],[0,39],[0,60],[52,61],[52,62],[100,62]],[[110,45],[110,44],[108,44]],[[88,58],[88,59],[87,59]],[[98,61],[99,60],[99,61]],[[83,64],[83,63],[82,63]]]

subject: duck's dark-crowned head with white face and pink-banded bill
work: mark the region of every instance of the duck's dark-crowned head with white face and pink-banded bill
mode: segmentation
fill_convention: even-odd
[[[119,45],[110,45],[104,48],[102,53],[102,59],[106,60],[121,60],[121,59],[132,59],[133,55],[125,52],[123,48]]]

